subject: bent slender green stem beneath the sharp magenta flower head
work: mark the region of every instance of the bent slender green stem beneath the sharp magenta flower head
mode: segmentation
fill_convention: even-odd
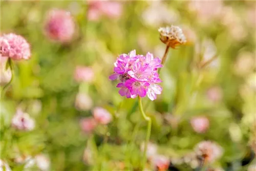
[[[146,164],[147,144],[148,144],[148,141],[150,140],[150,135],[151,135],[151,124],[152,124],[152,121],[151,121],[151,118],[146,116],[146,114],[144,113],[143,106],[142,106],[142,100],[141,100],[140,96],[138,96],[138,102],[139,102],[140,113],[143,116],[143,118],[147,121],[146,141],[145,141],[143,158],[142,158],[142,170],[144,170],[144,167],[145,167],[145,164]]]

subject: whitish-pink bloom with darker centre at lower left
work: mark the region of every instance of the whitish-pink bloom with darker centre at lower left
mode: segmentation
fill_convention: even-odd
[[[12,118],[12,127],[17,130],[31,131],[35,127],[35,121],[29,114],[17,109],[16,114]]]

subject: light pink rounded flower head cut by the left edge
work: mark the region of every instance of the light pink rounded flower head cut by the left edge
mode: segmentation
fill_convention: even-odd
[[[14,33],[4,34],[0,37],[1,57],[10,57],[13,60],[29,59],[30,45],[27,40]]]

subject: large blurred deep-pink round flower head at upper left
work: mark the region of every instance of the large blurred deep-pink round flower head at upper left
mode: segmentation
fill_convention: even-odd
[[[69,42],[75,33],[75,22],[65,10],[51,10],[45,22],[45,34],[59,42]]]

